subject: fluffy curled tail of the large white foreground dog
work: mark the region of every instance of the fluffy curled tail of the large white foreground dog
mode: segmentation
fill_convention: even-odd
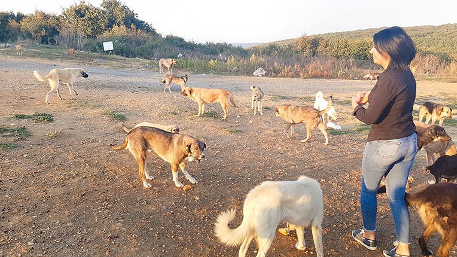
[[[245,219],[241,222],[241,225],[236,229],[228,228],[228,223],[235,218],[236,210],[231,209],[222,212],[217,217],[214,233],[221,243],[228,246],[238,246],[243,243],[244,239],[248,236],[247,223]]]

